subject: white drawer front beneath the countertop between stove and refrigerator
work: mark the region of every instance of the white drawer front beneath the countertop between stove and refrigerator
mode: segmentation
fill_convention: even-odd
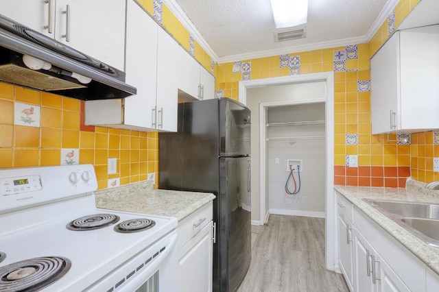
[[[178,239],[177,239],[177,250],[185,245],[193,236],[198,234],[200,230],[204,228],[213,217],[213,207],[212,202],[205,204],[191,215],[182,219],[178,223]]]

